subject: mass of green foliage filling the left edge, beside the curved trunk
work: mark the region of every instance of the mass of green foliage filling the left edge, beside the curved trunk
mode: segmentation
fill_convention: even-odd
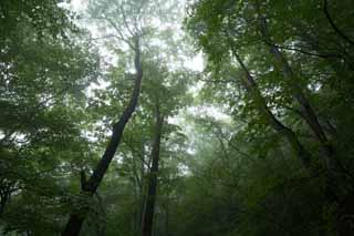
[[[1,234],[59,233],[70,177],[93,155],[82,129],[98,58],[60,3],[0,3]]]

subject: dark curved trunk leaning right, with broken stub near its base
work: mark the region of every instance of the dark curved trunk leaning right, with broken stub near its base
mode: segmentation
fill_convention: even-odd
[[[135,50],[134,64],[136,70],[136,78],[135,78],[135,84],[134,84],[134,90],[133,90],[131,101],[126,106],[126,109],[124,110],[119,121],[116,124],[114,124],[110,143],[101,161],[98,162],[96,168],[94,170],[93,174],[90,176],[88,181],[82,182],[82,193],[87,194],[91,197],[96,193],[97,187],[100,186],[105,173],[107,172],[107,168],[119,145],[124,127],[129,121],[132,114],[134,113],[138,102],[138,96],[140,93],[140,84],[143,79],[143,69],[140,64],[140,49],[139,49],[138,38],[136,38],[135,40],[134,50]],[[76,212],[73,212],[70,216],[70,219],[65,226],[64,232],[62,233],[62,236],[77,236],[80,234],[84,219],[85,219],[85,214],[79,214]]]

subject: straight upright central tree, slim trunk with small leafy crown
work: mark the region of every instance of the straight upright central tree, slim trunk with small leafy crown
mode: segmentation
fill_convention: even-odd
[[[167,68],[158,66],[156,62],[153,62],[149,74],[153,80],[149,80],[149,84],[145,86],[149,95],[152,119],[154,119],[150,167],[147,173],[147,192],[142,212],[142,235],[146,236],[153,235],[162,138],[169,133],[166,120],[176,114],[188,101],[186,94],[188,73],[184,71],[168,72]],[[166,145],[165,142],[163,144]]]

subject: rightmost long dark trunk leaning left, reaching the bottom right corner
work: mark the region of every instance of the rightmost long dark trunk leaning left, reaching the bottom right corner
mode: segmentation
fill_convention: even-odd
[[[343,192],[343,188],[351,188],[345,176],[345,170],[341,163],[336,160],[335,148],[331,141],[327,138],[324,129],[320,125],[319,117],[314,110],[311,107],[309,100],[305,98],[300,81],[292,71],[285,57],[279,51],[277,45],[272,42],[270,33],[268,31],[267,21],[264,17],[260,18],[260,29],[264,41],[270,47],[270,52],[274,58],[275,68],[278,68],[288,79],[292,89],[292,95],[298,101],[301,107],[303,117],[310,129],[315,134],[316,140],[321,144],[322,153],[325,157],[325,164],[327,170],[325,195],[330,204],[336,204],[336,218],[337,230],[341,236],[353,235],[353,215],[354,204],[348,202],[347,198],[353,199],[353,192]]]

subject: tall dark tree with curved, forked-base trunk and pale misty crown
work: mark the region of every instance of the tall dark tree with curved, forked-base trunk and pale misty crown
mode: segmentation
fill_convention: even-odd
[[[107,34],[103,38],[111,38],[116,42],[115,48],[122,47],[122,43],[127,45],[134,54],[135,83],[131,100],[124,110],[118,122],[113,125],[113,132],[110,143],[93,171],[88,179],[82,179],[82,194],[87,194],[92,197],[101,184],[114,154],[119,145],[125,125],[129,121],[133,112],[136,109],[137,100],[140,93],[140,84],[143,79],[143,41],[149,40],[148,37],[154,32],[152,27],[153,20],[159,20],[162,11],[157,11],[157,1],[94,1],[91,2],[90,13],[93,19],[101,21]],[[159,9],[166,3],[159,6]],[[87,211],[84,211],[87,212]],[[79,235],[82,224],[85,218],[85,213],[73,213],[67,222],[67,225],[62,235]]]

